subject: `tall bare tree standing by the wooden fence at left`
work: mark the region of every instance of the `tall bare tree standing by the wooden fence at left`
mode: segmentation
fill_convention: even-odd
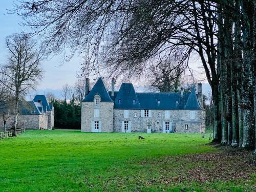
[[[36,41],[28,38],[26,34],[13,34],[6,38],[9,52],[8,63],[2,66],[0,81],[14,92],[14,122],[13,136],[16,136],[18,103],[30,89],[35,89],[42,78],[40,61],[44,58],[42,47],[36,49]]]

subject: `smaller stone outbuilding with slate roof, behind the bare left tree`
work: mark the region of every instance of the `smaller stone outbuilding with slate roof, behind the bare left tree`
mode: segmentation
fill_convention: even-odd
[[[4,124],[3,118],[0,119]],[[14,121],[11,114],[6,127],[10,128]],[[54,108],[49,104],[45,95],[36,95],[33,101],[22,101],[19,106],[17,127],[33,130],[52,130],[54,126]]]

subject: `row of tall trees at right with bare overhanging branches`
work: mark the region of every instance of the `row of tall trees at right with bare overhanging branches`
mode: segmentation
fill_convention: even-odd
[[[85,73],[140,75],[156,58],[198,55],[212,89],[214,140],[255,146],[255,1],[19,2],[13,12],[44,34],[50,52],[84,54]]]

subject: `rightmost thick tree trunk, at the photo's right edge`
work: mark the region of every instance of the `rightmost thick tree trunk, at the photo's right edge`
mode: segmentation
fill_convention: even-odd
[[[244,109],[244,148],[254,148],[255,144],[255,120],[253,105],[254,74],[253,74],[253,1],[241,1],[242,7],[242,31],[243,31],[243,54],[244,54],[244,76],[243,76],[243,100]]]

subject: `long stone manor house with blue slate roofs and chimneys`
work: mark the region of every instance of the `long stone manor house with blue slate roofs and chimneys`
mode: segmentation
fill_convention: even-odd
[[[89,79],[87,79],[89,84]],[[137,93],[132,83],[108,92],[99,78],[82,100],[82,132],[204,133],[202,84],[190,92]]]

